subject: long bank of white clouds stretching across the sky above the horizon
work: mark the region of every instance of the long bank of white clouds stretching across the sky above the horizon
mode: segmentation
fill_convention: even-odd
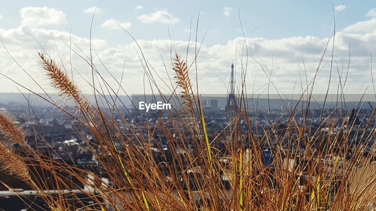
[[[375,18],[371,18],[370,22],[361,21],[352,26],[349,26],[347,30],[342,30],[337,32],[335,45],[334,45],[334,56],[338,62],[338,69],[347,70],[347,62],[349,56],[349,43],[351,44],[351,58],[350,58],[350,68],[348,75],[348,82],[346,82],[347,91],[346,93],[356,93],[360,90],[363,92],[370,82],[370,52],[376,51],[375,45],[370,45],[370,43],[376,43],[376,25],[372,29],[368,29],[363,32],[356,27],[372,27],[372,21]],[[106,27],[116,27],[119,29],[114,22],[121,24],[120,21],[108,20]],[[107,21],[106,21],[107,22]],[[111,24],[112,23],[112,24]],[[103,25],[103,24],[102,24]],[[356,26],[356,27],[355,27]],[[351,29],[351,30],[350,30]],[[182,29],[183,30],[183,29]],[[3,39],[5,46],[10,51],[12,56],[20,64],[26,67],[27,71],[30,71],[32,76],[36,78],[41,77],[41,70],[37,68],[30,68],[35,58],[30,57],[30,52],[35,52],[36,43],[32,37],[28,36],[25,32],[30,33],[34,38],[40,40],[42,45],[47,51],[56,52],[55,43],[52,39],[53,37],[60,37],[64,41],[70,41],[70,33],[59,30],[47,30],[47,29],[38,29],[37,27],[29,27],[22,25],[16,29],[2,29],[0,26],[0,37]],[[52,35],[52,36],[51,36]],[[84,53],[89,52],[89,39],[85,37],[80,37],[72,34],[72,42],[77,44]],[[111,39],[111,37],[109,38]],[[64,58],[69,58],[69,46],[64,44],[60,39],[55,39],[56,45],[59,52],[62,52]],[[173,73],[166,74],[163,62],[161,61],[162,53],[163,57],[168,57],[170,54],[170,42],[172,42],[173,47],[180,48],[177,49],[177,52],[186,52],[182,48],[185,48],[188,45],[186,40],[172,40],[169,39],[153,39],[153,40],[137,40],[139,46],[143,52],[147,53],[147,62],[155,68],[155,71],[161,76],[162,79],[168,80],[168,77],[173,77]],[[271,71],[272,61],[273,61],[273,73],[271,75],[271,81],[274,85],[282,90],[285,93],[291,93],[293,86],[296,82],[299,84],[300,75],[299,75],[299,66],[300,71],[303,71],[303,62],[302,55],[305,61],[306,74],[309,80],[314,77],[316,74],[316,69],[318,62],[320,61],[321,54],[326,46],[327,38],[317,38],[313,36],[305,37],[290,37],[284,39],[264,39],[264,38],[247,38],[247,45],[243,45],[244,39],[242,37],[234,38],[224,44],[215,44],[215,45],[202,45],[200,48],[200,53],[197,60],[197,74],[198,74],[198,83],[200,84],[200,92],[215,94],[215,93],[226,93],[226,87],[223,86],[223,81],[229,80],[230,75],[230,65],[232,59],[234,61],[239,61],[239,57],[235,58],[235,55],[239,55],[239,52],[246,52],[243,49],[237,47],[247,46],[249,54],[257,60],[264,68],[267,74]],[[190,42],[190,49],[194,49],[194,42]],[[103,39],[92,39],[92,47],[98,53],[99,58],[102,60],[103,64],[111,71],[111,74],[114,77],[121,77],[124,59],[127,57],[127,62],[124,67],[124,74],[127,75],[123,80],[123,87],[127,90],[128,93],[139,93],[139,90],[143,90],[143,65],[139,61],[138,54],[139,50],[136,50],[135,42],[129,44],[121,44],[116,46],[108,46],[106,40]],[[159,47],[158,48],[156,47]],[[79,49],[75,49],[77,52],[80,52]],[[25,53],[27,52],[27,53]],[[244,53],[243,59],[246,59],[246,54]],[[273,60],[272,60],[273,56]],[[188,55],[188,62],[192,62],[194,58],[194,51],[190,51]],[[97,58],[93,58],[94,63],[99,63]],[[327,62],[330,64],[331,55],[327,53],[324,56],[322,66],[318,72],[317,79],[315,82],[314,93],[321,92],[321,89],[326,90],[327,80],[330,74],[330,65],[325,65]],[[72,53],[72,63],[74,64],[74,69],[77,69],[83,77],[87,79],[87,72],[91,72],[90,66],[85,64],[85,61],[79,56],[75,56]],[[62,63],[68,63],[63,61]],[[235,64],[235,62],[234,62]],[[237,64],[239,67],[239,62]],[[265,84],[269,83],[268,78],[264,75],[264,71],[261,69],[258,63],[253,59],[248,60],[246,80],[248,81],[247,89],[258,90],[260,87],[266,87]],[[335,67],[334,69],[337,69]],[[33,81],[26,74],[24,74],[17,65],[9,59],[9,55],[6,54],[4,48],[0,48],[0,72],[11,78],[16,79],[22,84],[33,84]],[[300,72],[302,74],[302,72]],[[85,76],[86,75],[86,76]],[[90,75],[90,74],[89,74]],[[219,77],[218,77],[218,76]],[[305,75],[305,73],[303,73]],[[109,84],[111,84],[111,76],[103,71],[102,75]],[[79,77],[77,77],[79,78]],[[155,77],[158,78],[158,77]],[[195,78],[195,75],[192,76]],[[255,78],[257,78],[255,80]],[[14,92],[14,84],[9,82],[9,80],[3,80],[4,78],[0,76],[2,80],[3,88],[2,92]],[[156,79],[159,80],[159,79]],[[239,77],[235,78],[239,81]],[[336,81],[337,80],[337,81]],[[83,83],[83,90],[89,92],[90,85],[85,84],[84,80],[77,80]],[[90,81],[90,80],[89,80]],[[158,81],[157,81],[158,82]],[[332,83],[336,84],[338,82],[338,77],[335,78],[332,76]],[[303,80],[303,86],[305,86],[305,80]],[[112,83],[117,84],[117,83]],[[163,83],[157,83],[163,84]],[[216,84],[215,89],[213,89],[213,84]],[[47,84],[48,85],[48,84]],[[46,85],[46,87],[48,87]],[[81,84],[82,85],[82,84]],[[32,86],[32,85],[30,85]],[[163,85],[162,85],[163,86]],[[33,86],[33,89],[36,86]],[[297,86],[296,86],[297,87]],[[329,93],[337,93],[337,87],[331,85],[331,90]],[[168,89],[166,89],[168,90]],[[49,90],[47,90],[48,92]],[[297,90],[295,90],[296,92]],[[294,93],[295,93],[294,92]]]

